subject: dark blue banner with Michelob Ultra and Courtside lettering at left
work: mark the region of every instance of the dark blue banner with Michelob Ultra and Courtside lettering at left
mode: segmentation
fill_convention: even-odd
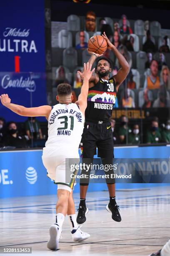
[[[8,0],[0,17],[0,95],[25,107],[46,105],[44,1]],[[23,121],[2,105],[0,111]]]

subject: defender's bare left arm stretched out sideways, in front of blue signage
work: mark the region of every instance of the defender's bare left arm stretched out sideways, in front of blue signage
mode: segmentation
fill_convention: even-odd
[[[51,112],[51,107],[50,106],[40,106],[37,108],[25,108],[24,106],[16,105],[11,103],[11,99],[7,94],[2,94],[0,96],[0,100],[2,105],[5,107],[9,108],[13,112],[15,112],[18,115],[23,115],[23,116],[45,116],[48,118]]]

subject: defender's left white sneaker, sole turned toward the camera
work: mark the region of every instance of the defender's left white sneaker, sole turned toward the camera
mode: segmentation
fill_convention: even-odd
[[[50,239],[47,242],[47,248],[50,250],[57,250],[62,229],[57,223],[55,223],[50,226],[49,231]]]

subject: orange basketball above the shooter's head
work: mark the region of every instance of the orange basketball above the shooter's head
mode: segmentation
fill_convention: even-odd
[[[102,36],[92,36],[88,41],[88,50],[103,54],[107,50],[107,41]]]

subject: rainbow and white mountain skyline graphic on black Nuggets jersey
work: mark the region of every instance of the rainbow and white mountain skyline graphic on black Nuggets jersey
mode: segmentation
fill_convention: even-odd
[[[87,101],[114,104],[116,101],[116,92],[100,92],[91,90],[88,92]]]

